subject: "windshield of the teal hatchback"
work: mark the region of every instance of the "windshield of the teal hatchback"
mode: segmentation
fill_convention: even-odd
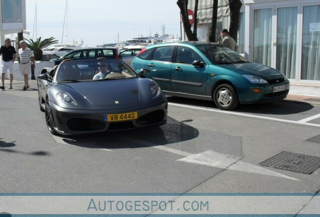
[[[204,44],[197,48],[212,62],[212,64],[232,64],[248,62],[243,56],[219,44]]]

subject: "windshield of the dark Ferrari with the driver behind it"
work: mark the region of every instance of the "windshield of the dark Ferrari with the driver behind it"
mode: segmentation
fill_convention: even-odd
[[[116,59],[95,59],[62,62],[56,69],[56,82],[79,82],[135,78],[137,74]]]

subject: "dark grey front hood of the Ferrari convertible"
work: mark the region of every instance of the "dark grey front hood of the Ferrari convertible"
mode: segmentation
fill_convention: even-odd
[[[136,79],[68,83],[96,106],[124,105],[139,101]]]

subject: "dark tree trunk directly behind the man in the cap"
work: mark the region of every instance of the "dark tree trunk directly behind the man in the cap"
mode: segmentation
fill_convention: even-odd
[[[228,0],[230,9],[229,35],[236,41],[239,29],[240,9],[242,3],[240,0]]]

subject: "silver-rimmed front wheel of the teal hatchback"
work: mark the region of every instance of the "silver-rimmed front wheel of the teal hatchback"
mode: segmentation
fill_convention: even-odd
[[[239,104],[238,94],[229,84],[219,85],[213,93],[214,103],[220,110],[233,110]]]

